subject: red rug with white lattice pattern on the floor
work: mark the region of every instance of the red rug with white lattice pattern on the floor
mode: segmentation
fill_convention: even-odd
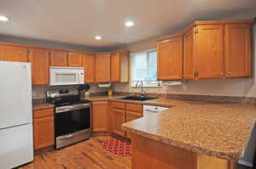
[[[121,141],[117,138],[110,138],[102,143],[103,149],[108,149],[114,155],[129,156],[131,155],[131,144]]]

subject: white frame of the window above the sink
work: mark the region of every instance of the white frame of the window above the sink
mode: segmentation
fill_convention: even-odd
[[[131,79],[131,82],[130,82],[130,87],[131,88],[136,88],[135,87],[135,85],[134,85],[134,82],[137,82],[137,81],[133,81],[133,75],[134,75],[134,66],[135,66],[135,64],[134,64],[134,55],[135,54],[144,54],[144,53],[146,53],[147,54],[147,57],[149,57],[149,53],[150,52],[156,52],[156,54],[157,54],[157,48],[151,48],[151,49],[148,49],[148,50],[144,50],[144,51],[141,51],[141,52],[134,52],[134,53],[131,53],[130,54],[130,63],[131,63],[131,65],[130,65],[130,79]],[[156,55],[156,57],[157,57],[157,55]],[[149,59],[147,60],[148,62],[149,62]],[[157,66],[157,63],[156,63],[156,66]],[[147,70],[148,70],[148,63],[147,63]],[[156,67],[156,71],[157,71],[157,67]],[[157,72],[156,72],[157,73]],[[162,87],[162,82],[161,81],[158,81],[157,79],[154,81],[154,80],[152,80],[153,82],[159,82],[160,83],[160,86],[157,86],[158,84],[155,84],[155,85],[144,85],[143,84],[143,87],[144,88],[161,88]],[[143,81],[143,82],[145,82],[145,81]]]

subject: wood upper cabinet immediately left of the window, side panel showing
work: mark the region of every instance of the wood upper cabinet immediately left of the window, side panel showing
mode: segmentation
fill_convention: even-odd
[[[130,52],[115,51],[111,54],[111,82],[129,82]]]

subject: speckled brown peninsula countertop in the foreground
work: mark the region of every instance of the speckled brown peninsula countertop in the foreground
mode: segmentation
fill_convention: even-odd
[[[154,99],[143,104],[172,106],[123,124],[125,130],[188,149],[236,161],[243,155],[256,120],[256,105],[210,104]]]

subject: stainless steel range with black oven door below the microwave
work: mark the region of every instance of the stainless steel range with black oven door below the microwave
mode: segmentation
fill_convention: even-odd
[[[90,138],[90,101],[79,90],[48,90],[47,102],[55,104],[55,149]]]

